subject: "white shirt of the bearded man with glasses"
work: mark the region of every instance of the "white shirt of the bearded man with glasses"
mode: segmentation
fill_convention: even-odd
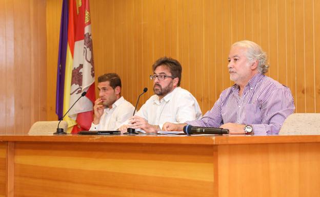
[[[176,87],[161,100],[157,95],[151,96],[135,115],[162,129],[166,122],[184,123],[199,119],[202,112],[197,100],[190,92]]]

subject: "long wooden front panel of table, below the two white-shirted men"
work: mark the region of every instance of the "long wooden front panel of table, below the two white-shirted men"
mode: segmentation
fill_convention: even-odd
[[[15,142],[14,196],[216,196],[211,145]]]

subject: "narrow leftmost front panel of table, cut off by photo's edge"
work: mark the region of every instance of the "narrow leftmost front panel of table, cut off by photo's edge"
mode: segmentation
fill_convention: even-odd
[[[7,142],[0,142],[0,197],[7,192]]]

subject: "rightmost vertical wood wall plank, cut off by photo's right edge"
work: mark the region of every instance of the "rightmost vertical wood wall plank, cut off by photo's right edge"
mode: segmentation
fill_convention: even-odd
[[[320,1],[313,1],[314,8],[312,10],[313,13],[313,48],[314,48],[314,76],[315,76],[315,112],[320,112],[320,12],[318,12],[317,8],[320,8]]]

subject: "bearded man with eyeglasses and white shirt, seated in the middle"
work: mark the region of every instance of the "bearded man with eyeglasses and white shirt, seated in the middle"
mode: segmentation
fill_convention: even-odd
[[[147,133],[157,133],[165,122],[183,123],[202,116],[197,100],[190,92],[179,87],[181,64],[172,58],[162,57],[152,65],[153,92],[129,124],[121,126],[122,133],[128,127]]]

